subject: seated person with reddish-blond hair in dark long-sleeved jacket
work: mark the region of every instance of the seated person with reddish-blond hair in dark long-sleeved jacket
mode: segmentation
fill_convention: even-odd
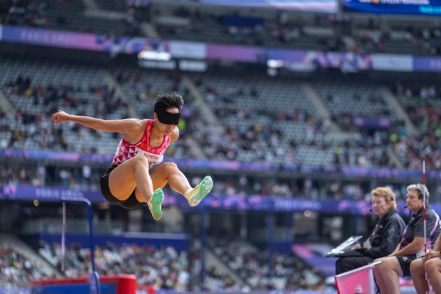
[[[377,225],[363,246],[355,246],[355,251],[344,254],[335,263],[335,272],[341,274],[351,269],[363,267],[393,252],[402,237],[405,222],[397,213],[395,194],[388,187],[372,190],[372,213],[379,217]],[[345,256],[346,255],[346,256]]]

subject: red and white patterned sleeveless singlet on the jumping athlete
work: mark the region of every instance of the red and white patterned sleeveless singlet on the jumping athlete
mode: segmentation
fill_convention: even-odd
[[[125,162],[126,160],[133,158],[135,156],[145,156],[148,159],[148,167],[153,167],[153,165],[159,165],[164,159],[164,153],[167,150],[170,142],[170,136],[165,135],[164,141],[162,141],[161,146],[153,148],[150,146],[150,135],[153,129],[153,120],[147,120],[147,127],[144,134],[137,144],[130,144],[121,138],[118,148],[116,148],[115,157],[113,161],[117,165]]]

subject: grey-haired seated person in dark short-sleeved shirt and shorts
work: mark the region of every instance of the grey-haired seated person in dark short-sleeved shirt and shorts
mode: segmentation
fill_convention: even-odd
[[[416,255],[424,254],[423,193],[426,194],[426,237],[433,248],[440,235],[440,217],[428,207],[428,190],[421,184],[407,186],[406,207],[413,212],[395,251],[374,267],[374,276],[381,293],[400,293],[400,276],[410,276],[410,264]],[[375,260],[377,261],[377,260]]]

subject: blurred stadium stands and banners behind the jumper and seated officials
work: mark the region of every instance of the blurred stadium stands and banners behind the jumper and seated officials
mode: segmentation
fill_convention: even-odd
[[[0,1],[0,292],[90,273],[158,292],[335,293],[335,259],[377,219],[370,191],[422,182],[441,213],[441,1]],[[165,189],[164,216],[107,203],[99,177],[120,134],[57,109],[153,118],[185,100],[166,161],[214,189]],[[331,277],[330,279],[327,279]],[[303,291],[303,292],[300,292]],[[3,293],[3,292],[2,292]]]

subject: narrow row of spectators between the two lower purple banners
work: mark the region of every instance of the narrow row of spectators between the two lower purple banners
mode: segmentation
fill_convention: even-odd
[[[45,174],[43,167],[24,167],[22,165],[6,165],[0,171],[0,185],[32,185],[57,186],[73,190],[99,190],[99,176],[102,169],[94,167],[66,168],[60,167],[57,174]],[[43,173],[43,174],[41,174]],[[187,174],[190,183],[196,185],[202,179],[199,174]],[[46,179],[44,179],[46,178]],[[267,176],[214,176],[216,185],[211,191],[211,197],[225,196],[260,196],[286,197],[309,200],[366,200],[370,201],[369,181],[312,181],[311,179],[277,179]],[[405,201],[406,184],[398,185],[384,183],[391,186],[398,201]],[[435,193],[435,190],[431,191]],[[165,187],[166,195],[175,192]],[[439,202],[435,194],[430,202]]]

